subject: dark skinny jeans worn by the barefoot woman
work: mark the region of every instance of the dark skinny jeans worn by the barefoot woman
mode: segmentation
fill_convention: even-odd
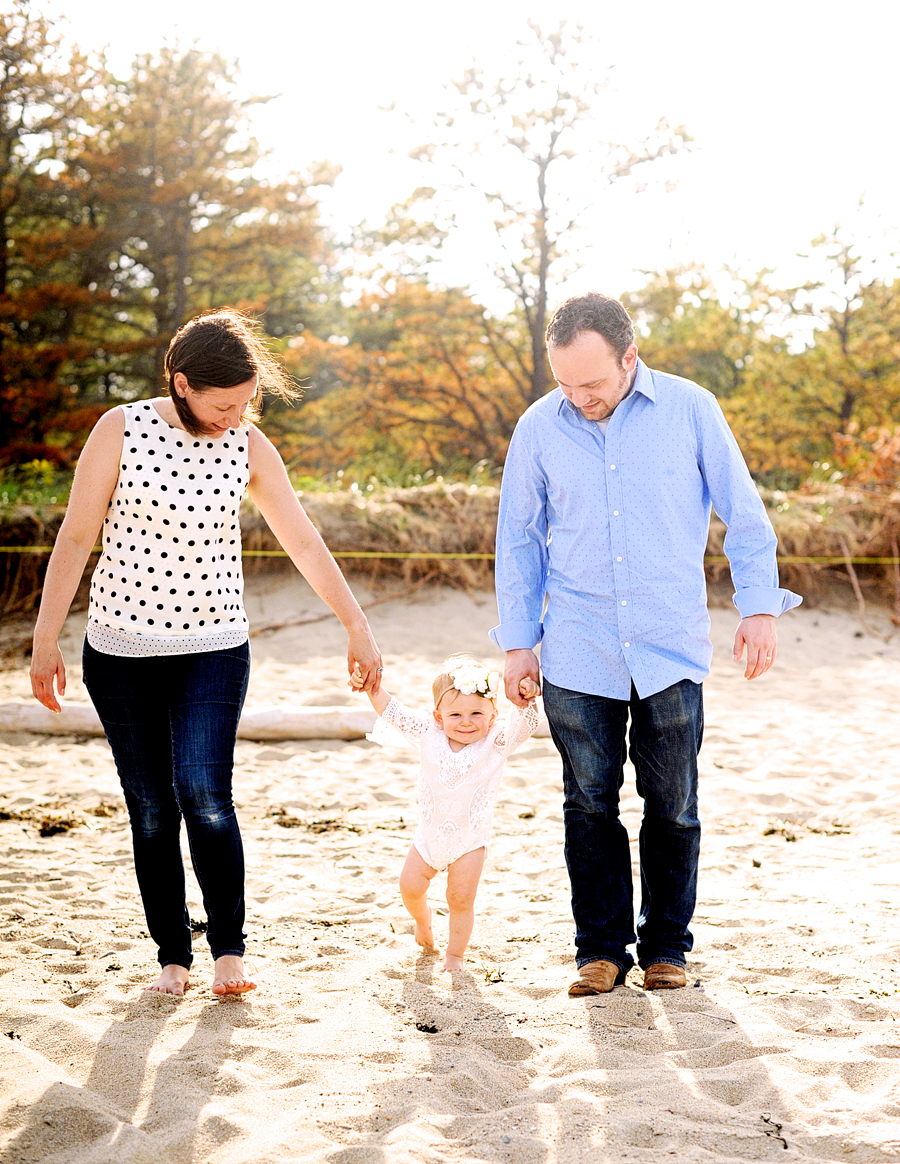
[[[243,954],[243,846],[232,771],[249,644],[123,658],[94,651],[85,640],[83,665],[125,792],[137,885],[160,964],[190,968],[193,958],[182,817],[213,958]]]

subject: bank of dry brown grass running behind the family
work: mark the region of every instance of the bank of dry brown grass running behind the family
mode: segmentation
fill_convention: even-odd
[[[779,539],[782,558],[825,558],[831,562],[780,566],[781,580],[808,602],[836,594],[865,592],[890,604],[900,617],[900,569],[892,565],[857,565],[844,559],[895,558],[900,542],[900,496],[823,485],[802,492],[764,494]],[[497,520],[499,490],[492,485],[428,484],[413,489],[387,489],[371,494],[336,490],[302,495],[306,512],[338,553],[382,552],[420,554],[490,554]],[[64,510],[22,506],[7,511],[0,521],[0,545],[49,545],[59,528]],[[256,510],[242,516],[245,548],[277,551],[278,544]],[[708,554],[724,553],[725,528],[714,517]],[[0,616],[6,627],[28,623],[37,606],[47,569],[47,554],[0,554]],[[93,567],[88,563],[88,572]],[[490,585],[492,562],[465,559],[343,559],[342,566],[370,581],[403,579],[412,583],[434,579],[465,589]],[[290,568],[278,558],[248,558],[248,573]],[[711,561],[707,573],[716,589],[727,589],[728,565]],[[851,590],[851,585],[853,589]],[[84,605],[83,583],[77,605]],[[0,644],[0,647],[2,644]],[[2,653],[2,652],[0,652]]]

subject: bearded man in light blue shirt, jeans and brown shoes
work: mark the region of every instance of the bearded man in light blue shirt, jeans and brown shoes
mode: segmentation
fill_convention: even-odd
[[[579,979],[598,994],[633,965],[631,854],[618,815],[629,715],[644,799],[637,959],[644,988],[686,985],[696,901],[697,752],[709,673],[703,552],[710,505],[725,553],[746,679],[775,658],[775,617],[801,599],[778,585],[775,535],[715,397],[651,371],[616,299],[586,294],[546,333],[558,388],[512,436],[497,527],[505,688],[539,679],[562,757],[566,863]],[[545,598],[546,613],[541,622]]]

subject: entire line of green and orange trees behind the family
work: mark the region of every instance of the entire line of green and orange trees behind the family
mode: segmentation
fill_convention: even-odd
[[[490,149],[473,139],[467,159],[459,111],[423,148],[432,176],[445,158],[474,182],[467,165],[496,151],[529,176],[533,197],[482,183],[509,256],[495,272],[504,312],[431,279],[452,227],[427,218],[440,183],[339,248],[318,206],[336,169],[264,172],[249,116],[265,98],[245,94],[232,64],[169,45],[116,76],[13,0],[0,13],[0,466],[71,466],[105,409],[160,391],[177,327],[226,304],[262,320],[304,386],[298,406],[265,416],[297,475],[405,484],[502,466],[517,418],[552,386],[541,332],[565,294],[566,175],[603,87],[577,65],[580,33],[530,28],[515,77],[475,69],[455,84]],[[660,122],[628,149],[591,141],[600,189],[654,172],[689,139]],[[871,275],[841,232],[809,263],[815,277],[792,289],[699,267],[649,275],[625,296],[642,356],[715,392],[761,483],[793,488],[817,467],[893,489],[900,283]]]

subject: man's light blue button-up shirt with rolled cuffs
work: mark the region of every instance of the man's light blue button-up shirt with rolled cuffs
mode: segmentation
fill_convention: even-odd
[[[798,606],[778,585],[774,531],[711,392],[638,361],[605,435],[550,392],[520,418],[503,470],[491,639],[502,651],[540,643],[546,677],[574,691],[628,700],[633,681],[646,698],[701,682],[713,505],[742,618]]]

